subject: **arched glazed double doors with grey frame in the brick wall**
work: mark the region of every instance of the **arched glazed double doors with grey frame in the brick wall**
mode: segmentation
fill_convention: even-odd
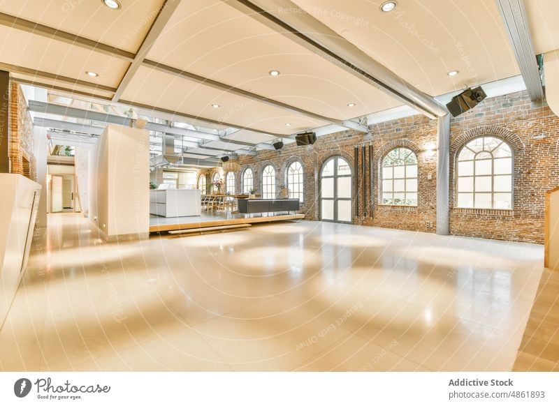
[[[320,170],[320,219],[351,224],[353,175],[341,156],[328,158]]]

